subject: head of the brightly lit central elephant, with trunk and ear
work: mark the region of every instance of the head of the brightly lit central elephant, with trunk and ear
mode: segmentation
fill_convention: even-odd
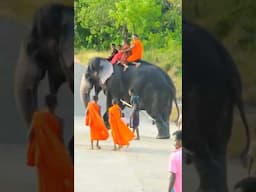
[[[113,66],[107,60],[96,57],[89,61],[85,74],[80,83],[80,99],[86,107],[90,100],[90,91],[94,87],[95,93],[105,86],[107,79],[113,74]]]

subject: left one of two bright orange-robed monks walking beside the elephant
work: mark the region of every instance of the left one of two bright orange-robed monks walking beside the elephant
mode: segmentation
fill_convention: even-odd
[[[91,148],[93,149],[93,141],[97,141],[96,147],[101,149],[99,140],[106,140],[109,137],[108,130],[105,126],[104,120],[100,115],[100,106],[98,105],[98,96],[93,97],[87,105],[87,112],[85,116],[85,125],[90,127]]]

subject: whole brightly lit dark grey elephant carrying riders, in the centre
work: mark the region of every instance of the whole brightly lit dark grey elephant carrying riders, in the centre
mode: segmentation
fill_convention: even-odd
[[[112,65],[101,57],[92,58],[82,76],[80,83],[80,99],[86,107],[90,99],[90,91],[94,87],[96,95],[101,90],[107,96],[107,108],[111,106],[112,99],[120,99],[129,103],[128,90],[133,89],[140,97],[140,110],[145,110],[154,120],[158,129],[157,139],[168,139],[169,117],[176,89],[170,79],[160,67],[141,60],[140,67],[130,65],[123,71],[121,65]],[[121,108],[125,106],[120,103]],[[106,113],[104,115],[106,117]]]

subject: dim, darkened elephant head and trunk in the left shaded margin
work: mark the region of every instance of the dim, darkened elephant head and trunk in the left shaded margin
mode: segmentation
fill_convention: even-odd
[[[38,109],[37,90],[46,73],[51,94],[57,95],[65,82],[74,93],[73,18],[73,7],[43,6],[35,13],[31,29],[22,42],[15,68],[14,94],[27,127]],[[71,142],[73,151],[72,145]]]

